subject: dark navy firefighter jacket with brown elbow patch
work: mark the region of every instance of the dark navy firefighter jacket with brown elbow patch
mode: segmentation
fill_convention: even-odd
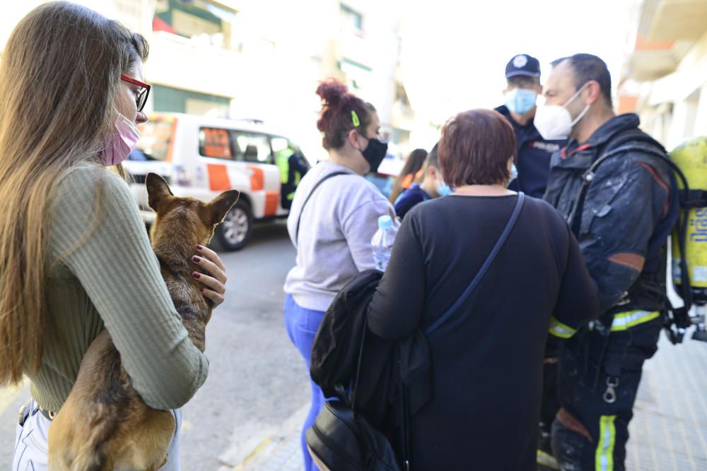
[[[592,332],[574,339],[591,357],[589,383],[612,331],[652,320],[667,306],[666,242],[679,215],[677,183],[660,157],[665,149],[638,124],[636,114],[621,114],[586,143],[571,140],[551,157],[544,199],[568,219],[599,290]]]

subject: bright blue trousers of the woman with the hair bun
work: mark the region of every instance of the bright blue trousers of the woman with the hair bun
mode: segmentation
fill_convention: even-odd
[[[307,376],[309,376],[310,362],[312,359],[312,342],[317,334],[317,329],[320,323],[322,323],[322,318],[324,317],[323,311],[312,311],[312,309],[305,309],[299,306],[290,294],[287,295],[285,299],[285,327],[287,328],[287,334],[290,336],[290,340],[300,354],[305,359],[305,364],[307,365]],[[317,386],[317,384],[310,379],[310,387],[312,388],[312,404],[310,405],[310,411],[305,419],[304,426],[302,427],[302,435],[300,437],[302,444],[302,453],[305,458],[305,471],[319,471],[317,465],[312,463],[312,457],[307,451],[307,443],[305,443],[305,431],[312,427],[317,415],[324,406],[325,397],[322,393],[322,389]]]

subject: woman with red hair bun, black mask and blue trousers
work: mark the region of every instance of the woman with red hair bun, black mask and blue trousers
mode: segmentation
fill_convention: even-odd
[[[354,275],[375,268],[370,239],[378,229],[378,217],[395,217],[385,196],[363,178],[378,169],[387,150],[387,144],[378,140],[375,108],[334,80],[321,83],[317,95],[322,98],[317,128],[329,159],[307,172],[293,198],[287,229],[297,258],[284,287],[287,333],[308,371],[312,341],[329,304]],[[311,387],[312,405],[302,434],[305,471],[317,467],[307,451],[304,431],[325,400],[319,386],[311,382]]]

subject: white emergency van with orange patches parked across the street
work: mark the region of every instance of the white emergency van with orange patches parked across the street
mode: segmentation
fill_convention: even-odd
[[[247,244],[254,220],[287,216],[283,187],[288,177],[289,186],[300,177],[292,181],[290,157],[308,168],[297,145],[257,122],[156,113],[138,128],[140,141],[123,165],[134,180],[132,192],[143,220],[150,224],[155,219],[145,189],[149,172],[164,177],[175,196],[210,201],[224,190],[237,189],[238,203],[214,234],[216,245],[225,250]]]

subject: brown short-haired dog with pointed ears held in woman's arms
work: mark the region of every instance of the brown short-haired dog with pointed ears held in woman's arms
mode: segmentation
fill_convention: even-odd
[[[213,303],[192,278],[194,246],[206,245],[238,200],[229,190],[210,203],[177,198],[157,174],[146,178],[148,202],[157,213],[150,231],[167,289],[189,338],[204,351],[204,329]],[[49,469],[157,470],[175,432],[172,413],[148,407],[132,388],[106,330],[86,351],[74,388],[49,427]]]

